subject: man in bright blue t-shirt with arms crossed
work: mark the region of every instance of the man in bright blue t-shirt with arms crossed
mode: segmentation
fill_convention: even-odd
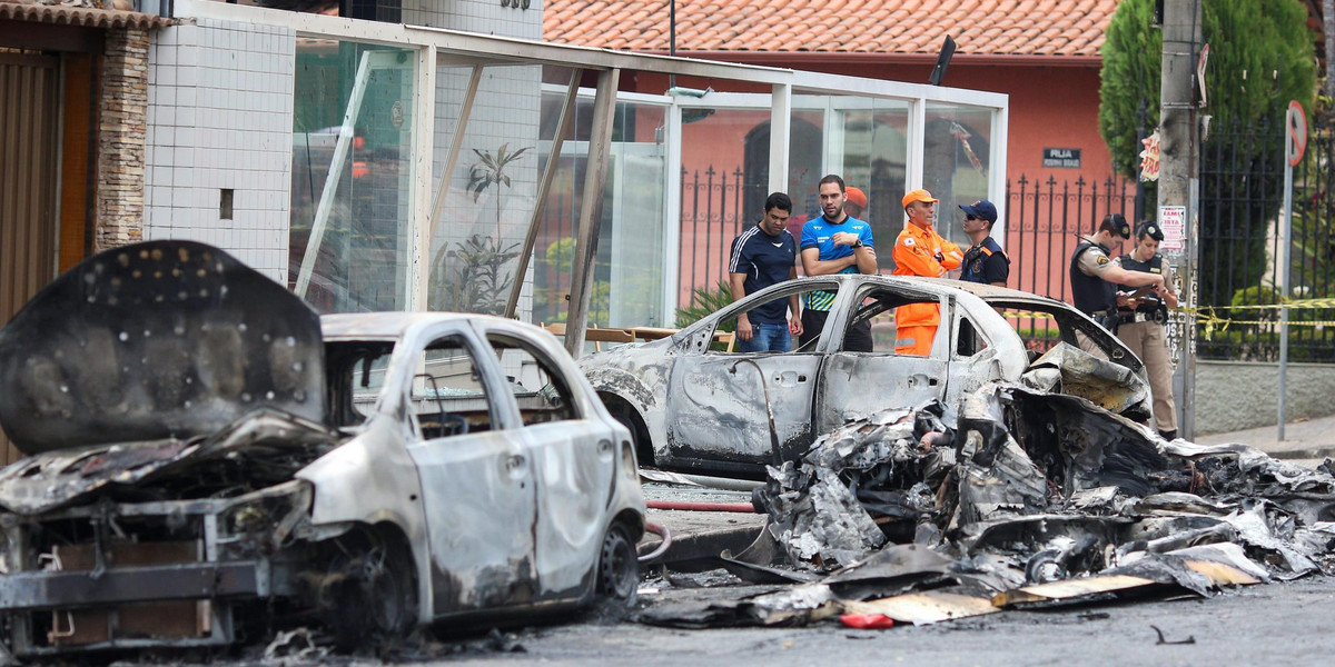
[[[821,197],[821,216],[802,225],[802,269],[808,276],[832,273],[876,273],[876,244],[872,225],[844,212],[848,201],[844,179],[830,173],[817,185]],[[801,346],[820,338],[834,305],[833,292],[810,292],[802,311]],[[872,351],[872,324],[861,321],[844,335],[842,350]]]

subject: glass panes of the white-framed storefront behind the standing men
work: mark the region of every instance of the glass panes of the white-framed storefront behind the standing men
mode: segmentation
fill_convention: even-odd
[[[441,51],[431,135],[418,139],[418,59],[417,48],[298,39],[291,287],[320,312],[502,313],[518,281],[519,319],[565,321],[593,91],[579,91],[554,155],[571,68]],[[585,84],[591,75],[583,72]],[[469,121],[457,133],[475,76]],[[678,307],[702,292],[717,297],[732,240],[762,215],[772,183],[782,181],[793,197],[790,231],[800,237],[802,223],[820,215],[817,181],[840,173],[868,195],[861,216],[882,245],[902,229],[898,203],[914,181],[941,199],[937,228],[956,241],[964,241],[956,205],[997,185],[989,173],[999,107],[806,88],[792,96],[788,173],[773,179],[769,96],[706,95],[618,95],[589,324],[673,327]],[[916,119],[924,119],[921,131]],[[918,135],[921,148],[912,145]],[[430,147],[430,160],[413,159],[419,145]],[[415,175],[414,164],[430,164],[430,176]],[[553,183],[521,276],[549,164]]]

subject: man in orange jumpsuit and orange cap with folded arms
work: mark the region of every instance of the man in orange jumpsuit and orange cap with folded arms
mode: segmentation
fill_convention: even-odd
[[[925,189],[904,195],[904,212],[909,224],[894,240],[894,275],[941,277],[952,268],[960,268],[964,253],[960,247],[943,239],[932,221],[936,217],[936,199]],[[932,340],[941,321],[941,308],[934,303],[910,303],[894,309],[894,354],[932,355]]]

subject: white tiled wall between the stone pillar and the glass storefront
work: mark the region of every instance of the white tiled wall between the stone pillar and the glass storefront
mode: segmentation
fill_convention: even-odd
[[[287,284],[294,37],[200,19],[154,40],[146,239],[211,243]]]

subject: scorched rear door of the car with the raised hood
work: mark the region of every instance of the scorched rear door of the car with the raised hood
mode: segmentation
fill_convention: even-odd
[[[490,331],[507,400],[519,415],[515,434],[533,462],[538,503],[533,524],[539,599],[575,598],[598,563],[615,474],[617,432],[583,414],[554,351],[518,332]]]

